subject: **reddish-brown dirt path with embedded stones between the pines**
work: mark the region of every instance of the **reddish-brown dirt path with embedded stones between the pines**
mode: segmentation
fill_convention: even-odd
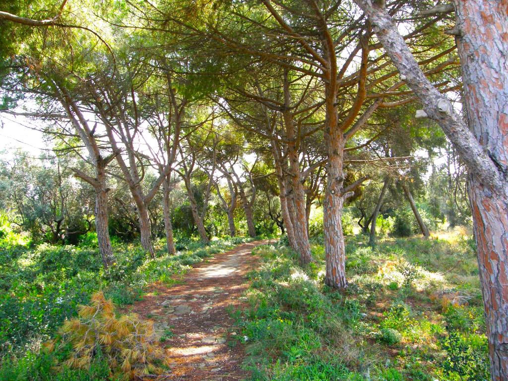
[[[245,372],[240,364],[241,345],[235,342],[229,308],[238,309],[245,274],[257,261],[252,248],[269,243],[254,241],[204,261],[173,287],[156,283],[143,301],[131,310],[155,322],[171,373],[170,380],[238,380]],[[228,309],[228,310],[227,310]],[[239,334],[239,333],[238,333]]]

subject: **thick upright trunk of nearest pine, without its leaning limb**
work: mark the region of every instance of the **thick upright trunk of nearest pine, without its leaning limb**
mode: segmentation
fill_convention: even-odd
[[[466,115],[502,174],[498,186],[469,174],[474,236],[487,321],[492,379],[508,379],[508,8],[506,2],[454,0]]]

